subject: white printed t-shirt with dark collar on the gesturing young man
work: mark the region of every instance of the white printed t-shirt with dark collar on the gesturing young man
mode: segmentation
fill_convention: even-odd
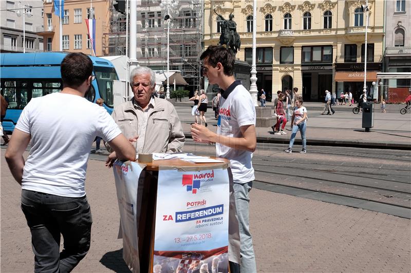
[[[240,81],[235,81],[226,92],[231,90],[232,87],[234,87],[234,90],[227,99],[223,96],[220,98],[217,134],[228,137],[242,137],[241,126],[255,125],[255,107],[250,93],[241,85]],[[254,169],[251,162],[253,153],[216,143],[216,154],[217,157],[230,160],[235,183],[247,183],[254,180]]]

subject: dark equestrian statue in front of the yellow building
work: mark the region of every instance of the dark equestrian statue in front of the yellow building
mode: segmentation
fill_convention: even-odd
[[[237,24],[234,22],[234,15],[231,13],[229,20],[225,19],[221,14],[217,14],[217,20],[220,21],[220,41],[218,46],[226,45],[227,49],[230,49],[231,52],[235,55],[238,50],[240,50],[241,41],[240,36],[237,33]]]

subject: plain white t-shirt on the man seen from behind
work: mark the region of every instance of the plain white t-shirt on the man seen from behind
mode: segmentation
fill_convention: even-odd
[[[64,93],[31,99],[15,128],[31,135],[23,190],[65,197],[86,194],[87,161],[96,136],[110,141],[121,134],[104,107]]]

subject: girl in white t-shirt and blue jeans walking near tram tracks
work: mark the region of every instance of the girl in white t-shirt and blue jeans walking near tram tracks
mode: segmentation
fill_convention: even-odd
[[[293,115],[291,118],[292,133],[290,137],[290,144],[288,144],[288,149],[285,150],[286,153],[292,153],[292,146],[294,144],[295,136],[297,131],[300,130],[301,141],[303,142],[303,149],[300,153],[307,153],[307,140],[305,138],[305,132],[307,129],[307,109],[303,106],[303,100],[296,100],[297,106],[294,108]]]

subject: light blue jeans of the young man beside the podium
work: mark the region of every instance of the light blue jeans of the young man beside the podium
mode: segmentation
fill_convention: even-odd
[[[235,206],[237,208],[238,225],[240,231],[241,273],[257,272],[249,220],[249,193],[252,186],[252,181],[244,184],[234,183]]]

